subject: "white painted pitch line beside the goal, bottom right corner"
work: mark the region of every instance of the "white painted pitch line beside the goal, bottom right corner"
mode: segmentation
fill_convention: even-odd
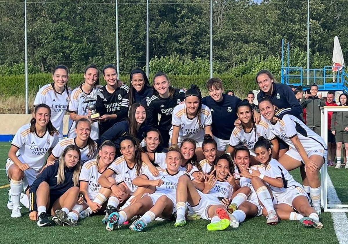
[[[337,196],[337,192],[332,184],[329,174],[327,174],[327,199],[329,204],[341,204],[341,200]],[[332,220],[335,234],[340,244],[348,243],[348,219],[346,213],[333,212]]]

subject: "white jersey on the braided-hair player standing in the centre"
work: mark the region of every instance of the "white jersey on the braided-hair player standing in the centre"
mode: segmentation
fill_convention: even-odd
[[[205,134],[203,126],[209,126],[212,124],[212,114],[210,109],[203,104],[200,113],[200,122],[201,127],[199,127],[198,124],[198,116],[193,119],[188,119],[185,104],[175,106],[173,110],[172,125],[180,126],[179,138],[181,138],[181,140],[191,138],[196,140],[196,142],[203,142]],[[173,127],[169,131],[169,135],[172,134]]]

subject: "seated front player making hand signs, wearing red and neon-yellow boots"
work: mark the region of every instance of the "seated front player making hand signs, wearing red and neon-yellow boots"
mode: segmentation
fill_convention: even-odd
[[[186,202],[190,212],[199,214],[202,219],[211,220],[208,230],[223,230],[229,225],[238,227],[238,221],[228,215],[226,206],[218,197],[229,198],[234,192],[236,182],[232,176],[234,164],[230,155],[222,154],[215,162],[214,169],[204,183],[203,191],[198,191],[187,176],[179,178],[176,188],[176,222],[175,227],[184,226]],[[197,180],[193,180],[197,181]]]

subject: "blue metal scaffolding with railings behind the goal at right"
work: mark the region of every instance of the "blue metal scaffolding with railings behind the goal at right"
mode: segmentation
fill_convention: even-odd
[[[308,87],[316,84],[321,91],[343,91],[348,89],[348,74],[344,67],[341,71],[332,72],[332,66],[325,66],[322,69],[309,69],[309,77],[307,77],[307,69],[302,67],[290,66],[290,44],[287,43],[287,60],[284,66],[284,39],[282,40],[282,83],[287,85]]]

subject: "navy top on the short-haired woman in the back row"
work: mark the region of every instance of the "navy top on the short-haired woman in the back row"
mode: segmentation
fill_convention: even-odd
[[[202,104],[208,106],[212,113],[212,132],[217,138],[229,140],[235,121],[238,119],[237,106],[242,100],[236,96],[222,94],[222,101],[216,102],[210,96],[202,99]]]

